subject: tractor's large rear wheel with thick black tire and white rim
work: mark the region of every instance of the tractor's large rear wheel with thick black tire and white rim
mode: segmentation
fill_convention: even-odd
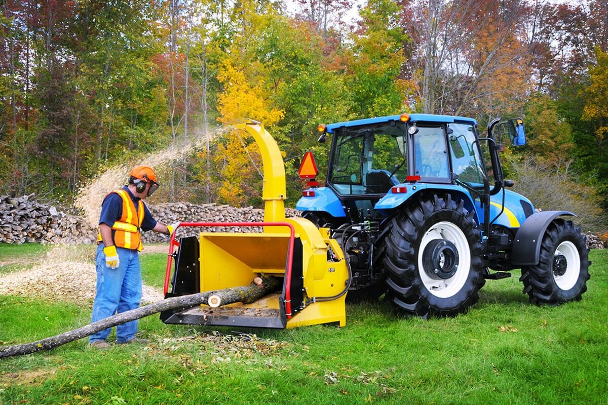
[[[387,298],[421,318],[465,313],[485,284],[481,231],[452,196],[422,196],[392,221],[386,237]]]

